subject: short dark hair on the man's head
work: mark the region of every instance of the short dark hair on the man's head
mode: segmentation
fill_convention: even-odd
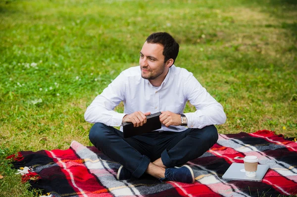
[[[152,33],[148,36],[148,43],[158,43],[161,44],[163,49],[163,55],[165,56],[164,63],[169,59],[173,59],[173,63],[178,55],[179,44],[175,41],[175,39],[166,32],[157,32]]]

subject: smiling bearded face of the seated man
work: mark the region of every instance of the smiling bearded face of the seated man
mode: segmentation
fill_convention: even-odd
[[[156,79],[165,71],[164,47],[161,44],[145,42],[139,58],[141,77],[144,79]]]

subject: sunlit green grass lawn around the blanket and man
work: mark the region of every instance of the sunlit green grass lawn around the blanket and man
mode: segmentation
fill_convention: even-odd
[[[6,156],[91,145],[86,107],[138,65],[152,32],[177,39],[176,66],[223,105],[220,133],[297,136],[296,8],[294,0],[0,1],[0,196],[34,196]]]

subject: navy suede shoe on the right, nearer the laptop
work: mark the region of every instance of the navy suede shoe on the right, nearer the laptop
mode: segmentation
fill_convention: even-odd
[[[165,169],[165,178],[159,179],[164,181],[177,181],[183,183],[194,183],[195,177],[192,168],[189,165],[183,165],[182,167],[171,167]]]

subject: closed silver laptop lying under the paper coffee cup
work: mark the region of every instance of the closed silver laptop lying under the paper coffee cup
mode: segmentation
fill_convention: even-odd
[[[245,165],[243,163],[232,163],[222,178],[231,180],[262,181],[268,169],[269,165],[258,164],[256,176],[249,177],[246,176]]]

